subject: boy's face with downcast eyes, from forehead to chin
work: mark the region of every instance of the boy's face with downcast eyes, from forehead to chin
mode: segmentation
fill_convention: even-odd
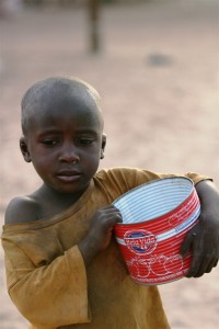
[[[91,97],[54,95],[37,105],[21,150],[46,185],[62,193],[85,190],[103,158],[105,136]]]

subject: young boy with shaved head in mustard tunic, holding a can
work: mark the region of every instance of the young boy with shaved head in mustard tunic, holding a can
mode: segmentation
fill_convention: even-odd
[[[22,100],[20,147],[43,180],[5,213],[2,246],[9,294],[33,328],[165,329],[157,286],[131,281],[113,236],[122,222],[112,202],[145,182],[147,170],[99,172],[106,136],[97,92],[71,78],[32,86]],[[219,194],[207,178],[187,173],[201,203],[188,232],[187,276],[200,276],[219,257]]]

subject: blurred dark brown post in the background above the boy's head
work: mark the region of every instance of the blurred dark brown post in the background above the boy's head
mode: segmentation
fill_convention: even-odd
[[[89,1],[89,19],[90,19],[90,43],[91,50],[97,53],[100,50],[100,3],[101,0]]]

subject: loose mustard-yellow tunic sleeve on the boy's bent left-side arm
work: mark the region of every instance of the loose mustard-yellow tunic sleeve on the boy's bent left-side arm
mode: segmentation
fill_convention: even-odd
[[[7,235],[2,235],[2,247],[9,294],[31,324],[37,329],[55,329],[91,321],[85,266],[77,246],[50,263],[42,257],[37,265],[22,245]]]

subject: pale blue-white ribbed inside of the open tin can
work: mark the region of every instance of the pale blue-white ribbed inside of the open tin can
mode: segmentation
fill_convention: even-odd
[[[193,181],[187,178],[165,178],[135,188],[113,204],[120,211],[123,224],[147,222],[176,208],[191,195],[193,188]]]

